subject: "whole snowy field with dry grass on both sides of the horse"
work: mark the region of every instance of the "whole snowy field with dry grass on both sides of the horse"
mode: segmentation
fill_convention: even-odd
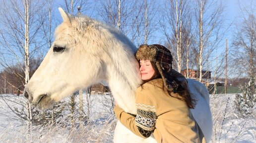
[[[70,113],[65,111],[62,120],[66,126],[49,124],[28,130],[27,122],[12,111],[22,108],[20,103],[26,102],[23,96],[0,95],[0,143],[112,143],[117,119],[109,97],[108,94],[91,95],[87,100],[84,96],[84,112],[90,113],[86,125],[78,127],[77,117],[75,127],[71,128]],[[234,104],[235,94],[211,95],[210,98],[213,117],[211,143],[256,143],[256,119],[239,117]],[[69,100],[63,102],[69,103]],[[89,101],[89,106],[86,101]]]

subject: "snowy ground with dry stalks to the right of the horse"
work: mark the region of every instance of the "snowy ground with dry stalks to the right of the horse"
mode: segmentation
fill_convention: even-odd
[[[256,118],[239,117],[236,94],[210,95],[212,143],[256,143]]]

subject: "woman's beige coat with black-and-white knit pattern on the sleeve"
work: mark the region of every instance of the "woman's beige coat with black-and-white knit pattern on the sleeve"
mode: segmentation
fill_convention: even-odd
[[[171,97],[162,89],[162,79],[154,79],[136,90],[137,115],[118,106],[117,118],[137,136],[153,133],[157,143],[200,143],[198,127],[186,103]],[[202,140],[202,137],[200,137]],[[202,141],[201,141],[202,142]]]

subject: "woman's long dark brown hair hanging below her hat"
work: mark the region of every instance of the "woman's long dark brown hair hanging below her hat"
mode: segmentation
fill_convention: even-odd
[[[152,65],[152,68],[154,69],[155,73],[154,73],[154,75],[150,79],[143,80],[143,83],[141,84],[141,86],[144,83],[146,83],[146,82],[148,82],[150,80],[157,79],[157,78],[161,78],[162,79],[161,74],[158,71],[155,62],[151,62],[151,65]],[[195,99],[193,99],[193,97],[192,97],[192,95],[190,93],[190,90],[189,90],[187,82],[185,82],[185,84],[184,84],[184,82],[182,83],[181,81],[177,80],[176,77],[174,77],[174,81],[178,84],[178,88],[177,88],[177,90],[174,91],[174,93],[178,93],[182,98],[172,96],[171,95],[171,91],[169,91],[169,90],[167,90],[168,94],[171,97],[174,97],[174,98],[177,98],[177,99],[179,99],[181,101],[184,101],[189,108],[194,108],[194,106],[195,106]],[[142,86],[142,88],[143,88],[143,86]],[[162,89],[163,90],[165,89],[164,84],[163,84]]]

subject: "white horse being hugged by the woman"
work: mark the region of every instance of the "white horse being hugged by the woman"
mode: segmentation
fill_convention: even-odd
[[[136,47],[112,27],[86,16],[71,16],[62,8],[59,11],[64,22],[56,29],[56,39],[26,85],[24,96],[39,108],[50,108],[79,89],[106,81],[120,107],[136,114],[134,92],[141,83]],[[198,100],[192,114],[209,142],[212,118],[208,91],[198,81],[188,81]],[[142,139],[119,121],[114,142],[156,143],[153,136]]]

